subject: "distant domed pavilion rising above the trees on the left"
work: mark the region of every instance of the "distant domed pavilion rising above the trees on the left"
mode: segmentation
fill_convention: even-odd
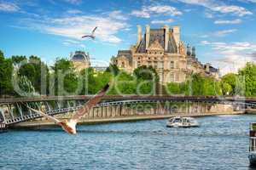
[[[82,71],[90,67],[90,56],[85,54],[84,51],[76,51],[74,54],[70,55],[71,61],[76,69],[76,71]]]

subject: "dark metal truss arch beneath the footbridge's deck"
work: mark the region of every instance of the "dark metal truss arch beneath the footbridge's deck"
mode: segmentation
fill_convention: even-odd
[[[38,113],[32,112],[27,109],[26,106],[33,107],[38,110],[45,111],[48,115],[54,116],[72,111],[78,111],[82,108],[86,99],[74,99],[74,100],[55,100],[55,101],[31,101],[31,102],[15,102],[15,103],[3,103],[0,104],[0,116],[2,113],[5,124],[11,125],[17,122],[26,122],[32,119],[40,118],[42,116]],[[242,102],[234,100],[186,100],[186,99],[125,99],[119,101],[104,101],[97,104],[95,108],[108,107],[108,106],[124,106],[124,105],[138,105],[138,104],[153,104],[164,102],[183,102],[183,103],[195,103],[198,104],[224,104],[224,105],[238,105],[241,108],[251,107],[256,108],[256,104],[253,102]],[[1,121],[0,121],[1,122]]]

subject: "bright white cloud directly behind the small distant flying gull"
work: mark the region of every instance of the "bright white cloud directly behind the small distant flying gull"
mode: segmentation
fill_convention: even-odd
[[[46,26],[48,33],[60,35],[63,37],[73,37],[80,39],[84,34],[98,26],[96,38],[103,42],[117,43],[121,40],[115,34],[125,28],[125,23],[109,18],[96,16],[77,16],[51,20],[55,26]]]

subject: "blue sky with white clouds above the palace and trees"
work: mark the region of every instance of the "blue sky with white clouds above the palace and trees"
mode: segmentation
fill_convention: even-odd
[[[108,62],[137,41],[137,24],[181,26],[202,63],[225,72],[256,59],[256,0],[0,0],[0,49],[52,64],[85,50]],[[95,26],[96,40],[80,37]]]

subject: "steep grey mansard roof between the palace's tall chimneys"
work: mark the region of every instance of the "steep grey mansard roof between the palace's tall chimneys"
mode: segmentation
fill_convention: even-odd
[[[150,29],[149,47],[152,43],[158,40],[162,48],[165,48],[165,29]],[[146,34],[144,34],[142,41],[137,47],[137,53],[146,53]],[[172,35],[172,29],[169,30],[169,42],[166,53],[177,53],[176,42]]]

